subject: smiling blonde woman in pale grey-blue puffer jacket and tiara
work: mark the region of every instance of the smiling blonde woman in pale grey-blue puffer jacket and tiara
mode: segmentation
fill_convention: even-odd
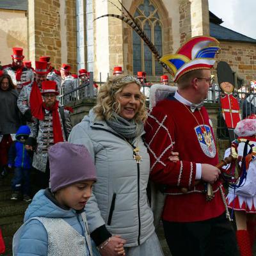
[[[68,139],[85,145],[95,161],[98,182],[86,215],[100,255],[117,255],[113,248],[123,239],[125,255],[163,255],[147,200],[150,159],[142,138],[147,110],[140,87],[133,76],[109,78],[97,106]]]

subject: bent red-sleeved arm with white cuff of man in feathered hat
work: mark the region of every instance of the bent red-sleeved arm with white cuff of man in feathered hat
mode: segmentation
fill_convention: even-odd
[[[145,124],[146,143],[150,154],[150,179],[159,184],[189,188],[195,186],[196,179],[213,183],[218,179],[220,170],[211,164],[193,161],[170,161],[175,150],[175,124],[172,117],[162,109],[154,108]],[[193,149],[192,149],[193,150]]]

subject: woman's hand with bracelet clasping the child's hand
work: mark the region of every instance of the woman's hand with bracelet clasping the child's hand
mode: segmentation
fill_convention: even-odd
[[[124,252],[124,244],[125,240],[122,239],[120,236],[112,236],[108,240],[104,241],[99,246],[99,252],[102,256],[118,256],[118,255],[125,255]],[[104,245],[106,244],[106,245]]]

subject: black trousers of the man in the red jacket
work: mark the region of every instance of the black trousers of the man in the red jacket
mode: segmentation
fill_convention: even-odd
[[[172,256],[237,256],[236,233],[225,214],[196,222],[163,221]]]

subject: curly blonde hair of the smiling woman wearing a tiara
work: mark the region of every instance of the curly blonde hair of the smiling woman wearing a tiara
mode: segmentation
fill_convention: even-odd
[[[120,102],[116,99],[116,95],[122,92],[127,84],[136,83],[141,87],[140,81],[133,76],[113,76],[109,77],[106,83],[100,87],[97,97],[97,105],[93,111],[98,119],[110,120],[112,118],[112,111],[120,113]],[[146,97],[140,92],[140,107],[134,116],[135,122],[144,122],[147,119]]]

